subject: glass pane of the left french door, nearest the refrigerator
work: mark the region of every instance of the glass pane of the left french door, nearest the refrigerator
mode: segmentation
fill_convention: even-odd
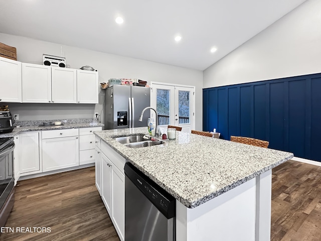
[[[158,115],[157,124],[170,124],[170,90],[157,89],[156,110]]]

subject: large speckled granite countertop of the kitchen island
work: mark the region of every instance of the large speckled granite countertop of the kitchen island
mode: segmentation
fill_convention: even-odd
[[[188,208],[197,207],[291,159],[292,153],[177,132],[163,145],[128,148],[115,137],[146,128],[96,131],[107,145]]]

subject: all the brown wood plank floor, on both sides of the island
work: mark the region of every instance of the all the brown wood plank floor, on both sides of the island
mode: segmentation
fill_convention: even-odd
[[[96,189],[94,167],[18,184],[6,227],[51,232],[15,230],[1,233],[0,241],[119,240]],[[290,160],[272,170],[271,240],[321,240],[321,167]]]

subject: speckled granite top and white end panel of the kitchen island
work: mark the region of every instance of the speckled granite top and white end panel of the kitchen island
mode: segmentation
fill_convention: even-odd
[[[271,169],[292,153],[183,132],[144,148],[114,139],[146,131],[94,134],[177,199],[176,240],[270,240]]]

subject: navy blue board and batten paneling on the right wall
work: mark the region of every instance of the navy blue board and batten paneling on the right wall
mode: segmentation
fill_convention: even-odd
[[[321,74],[203,89],[203,131],[321,162]]]

